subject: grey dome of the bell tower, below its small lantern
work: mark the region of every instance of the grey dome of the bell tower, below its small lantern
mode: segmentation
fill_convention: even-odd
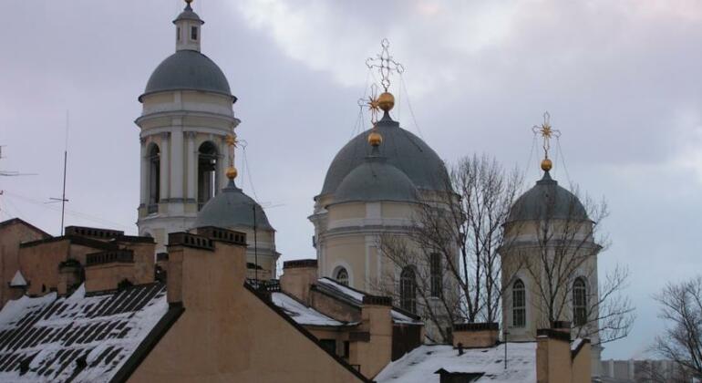
[[[229,96],[232,102],[236,101],[222,69],[210,57],[188,49],[166,57],[154,69],[139,101],[150,93],[167,90],[201,90]]]

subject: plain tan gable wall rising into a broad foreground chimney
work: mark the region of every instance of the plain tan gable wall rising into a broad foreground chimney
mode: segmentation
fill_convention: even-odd
[[[170,252],[185,310],[130,382],[361,381],[243,286],[243,247]]]

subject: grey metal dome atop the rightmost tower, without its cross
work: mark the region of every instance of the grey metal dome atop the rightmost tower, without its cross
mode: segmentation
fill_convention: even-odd
[[[507,222],[542,220],[589,220],[583,203],[559,186],[548,171],[514,202]]]

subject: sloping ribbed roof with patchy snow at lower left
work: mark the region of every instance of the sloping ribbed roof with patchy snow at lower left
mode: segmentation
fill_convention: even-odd
[[[161,284],[10,301],[0,311],[0,381],[108,382],[168,311]]]

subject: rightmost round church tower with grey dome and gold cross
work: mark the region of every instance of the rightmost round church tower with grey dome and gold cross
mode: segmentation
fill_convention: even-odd
[[[510,341],[533,341],[537,329],[570,328],[591,339],[593,375],[599,376],[599,292],[594,222],[583,202],[552,179],[549,141],[560,134],[548,113],[540,127],[542,179],[511,207],[504,224],[502,326]]]

